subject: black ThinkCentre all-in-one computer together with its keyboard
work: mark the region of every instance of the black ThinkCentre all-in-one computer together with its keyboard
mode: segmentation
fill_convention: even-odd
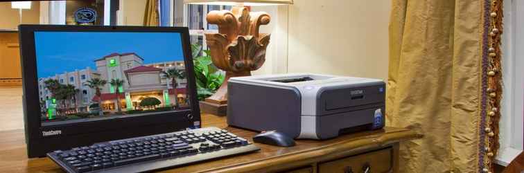
[[[28,157],[144,172],[259,150],[200,128],[188,28],[19,26]]]

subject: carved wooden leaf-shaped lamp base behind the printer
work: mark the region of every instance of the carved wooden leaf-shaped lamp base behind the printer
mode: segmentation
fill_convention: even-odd
[[[245,7],[233,7],[231,11],[215,10],[207,14],[207,22],[218,25],[218,33],[206,34],[211,60],[218,69],[226,71],[226,78],[218,91],[206,101],[225,104],[227,80],[251,75],[251,71],[264,64],[270,34],[259,33],[259,27],[269,24],[270,19],[266,12],[250,12]]]

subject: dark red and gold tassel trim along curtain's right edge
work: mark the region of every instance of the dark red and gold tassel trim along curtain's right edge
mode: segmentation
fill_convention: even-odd
[[[484,1],[484,34],[482,41],[482,106],[480,125],[480,171],[494,172],[493,161],[498,143],[502,73],[500,35],[503,31],[503,0]]]

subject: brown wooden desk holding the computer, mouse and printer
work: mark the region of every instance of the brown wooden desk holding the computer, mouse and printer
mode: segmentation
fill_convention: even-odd
[[[225,128],[251,140],[256,133],[227,127],[225,117],[202,115],[204,127]],[[421,137],[408,129],[386,127],[333,138],[331,140],[297,140],[295,147],[256,144],[260,152],[232,156],[164,172],[362,172],[366,162],[372,172],[398,172],[399,142]],[[0,172],[63,172],[49,158],[26,157],[24,131],[0,132]]]

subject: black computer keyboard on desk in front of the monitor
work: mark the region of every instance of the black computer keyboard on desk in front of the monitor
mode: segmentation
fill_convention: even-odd
[[[225,129],[205,127],[112,140],[47,156],[67,172],[148,172],[258,150]]]

